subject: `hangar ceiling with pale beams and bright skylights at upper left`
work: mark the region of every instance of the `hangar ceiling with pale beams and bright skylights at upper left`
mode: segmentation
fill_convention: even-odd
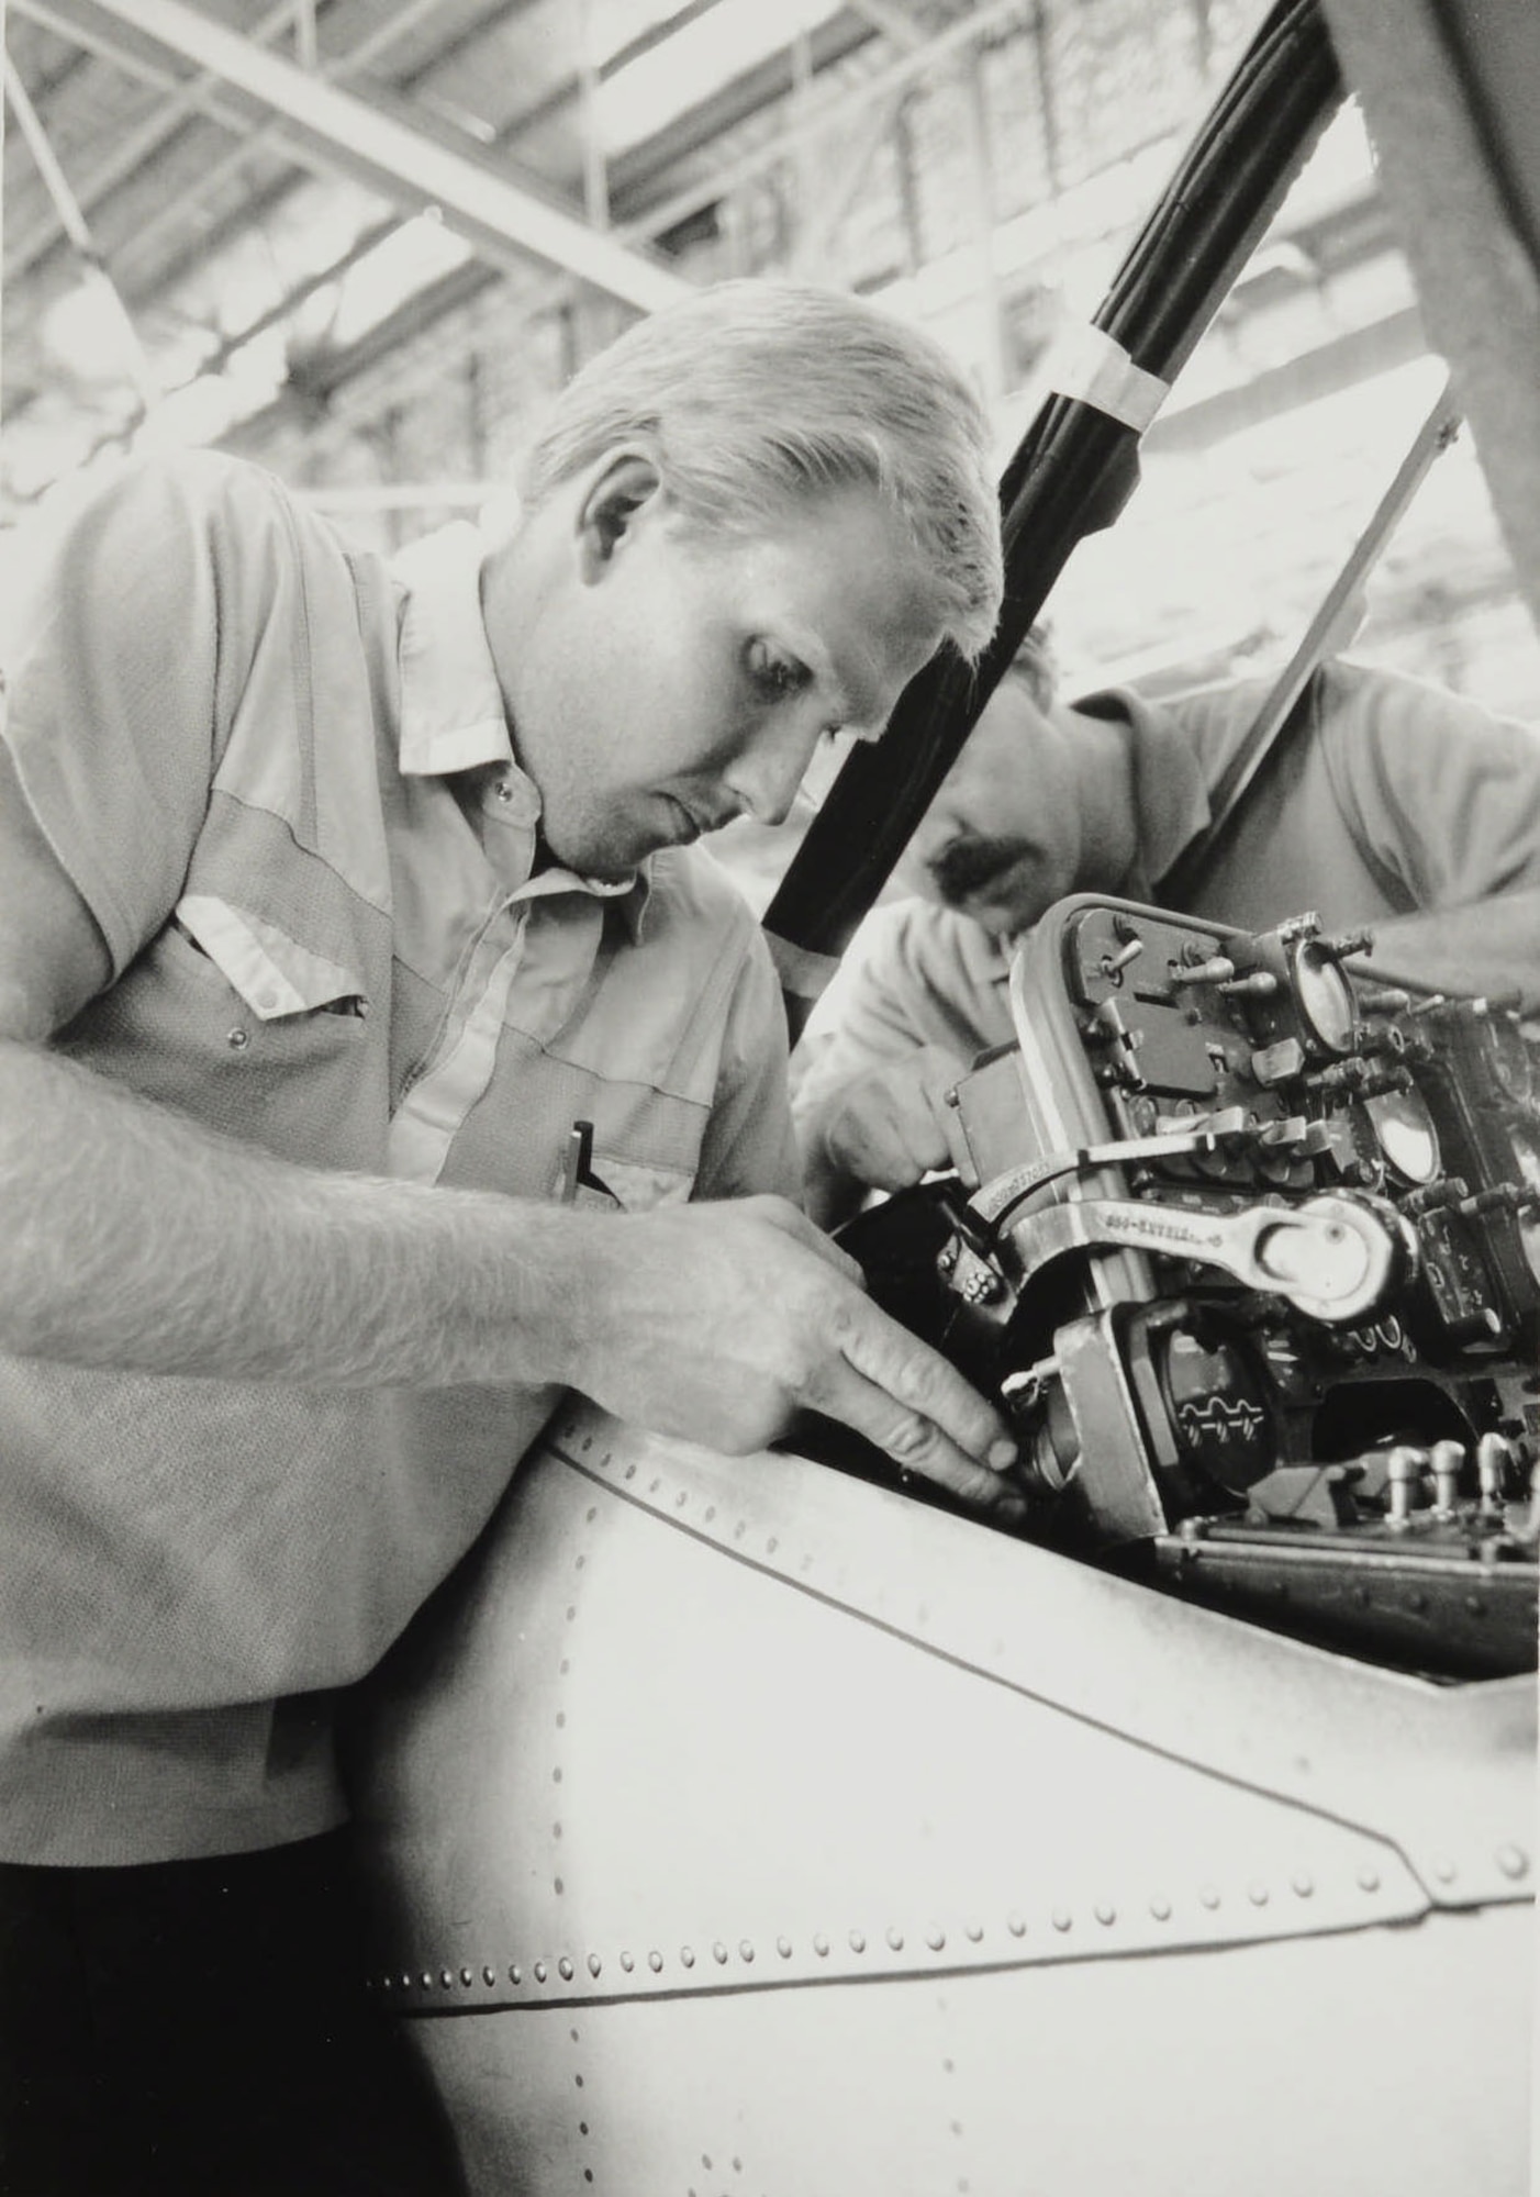
[[[677,233],[718,202],[727,136],[740,178],[756,123],[771,163],[795,158],[797,125],[837,123],[830,105],[872,136],[925,70],[1024,13],[13,0],[9,488],[29,494],[90,450],[79,415],[127,439],[169,395],[231,378],[270,330],[314,393],[488,279],[529,312],[554,294],[652,310],[696,279]],[[239,417],[239,398],[228,409]]]

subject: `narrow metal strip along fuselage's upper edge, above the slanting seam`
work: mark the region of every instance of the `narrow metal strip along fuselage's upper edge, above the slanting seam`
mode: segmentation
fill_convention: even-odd
[[[1391,1839],[1441,1905],[1531,1898],[1536,1687],[1437,1685],[1195,1608],[800,1457],[576,1406],[549,1448],[743,1564],[1145,1747]]]

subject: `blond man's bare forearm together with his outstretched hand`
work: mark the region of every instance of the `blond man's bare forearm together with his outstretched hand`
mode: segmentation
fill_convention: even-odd
[[[606,1215],[310,1171],[18,1041],[0,1041],[0,1349],[569,1386],[734,1452],[815,1406],[971,1501],[1008,1498],[993,1406],[782,1197]]]

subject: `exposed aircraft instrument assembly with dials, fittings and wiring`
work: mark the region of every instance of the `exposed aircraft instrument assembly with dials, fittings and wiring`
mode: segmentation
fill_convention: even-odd
[[[1250,934],[1059,903],[956,1175],[852,1222],[1015,1424],[1030,1538],[1437,1676],[1536,1663],[1540,1041]]]

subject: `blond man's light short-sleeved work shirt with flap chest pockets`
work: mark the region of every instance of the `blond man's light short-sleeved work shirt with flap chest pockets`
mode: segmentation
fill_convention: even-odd
[[[7,740],[112,962],[59,1052],[316,1169],[622,1206],[793,1191],[784,1024],[696,855],[538,868],[483,545],[395,567],[257,468],[127,468],[18,622]],[[20,861],[0,817],[0,859]],[[486,1525],[549,1389],[0,1360],[0,1859],[338,1821],[332,1692]]]

